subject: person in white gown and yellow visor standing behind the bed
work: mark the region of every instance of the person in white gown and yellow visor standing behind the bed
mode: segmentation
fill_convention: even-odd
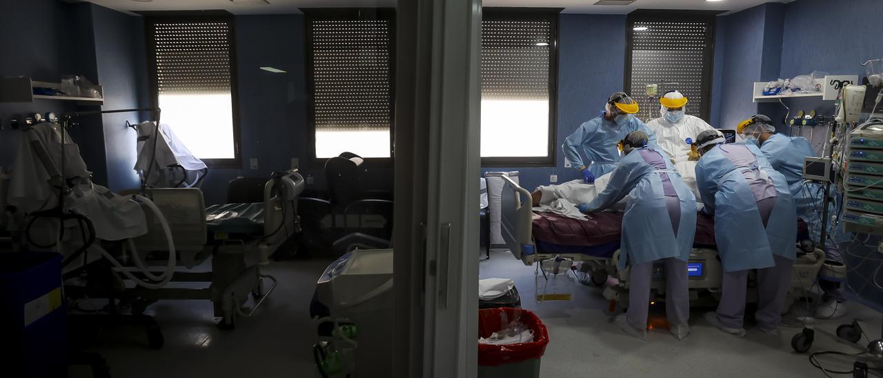
[[[678,91],[666,92],[660,97],[660,117],[648,122],[647,127],[656,134],[656,143],[675,161],[675,170],[683,183],[698,196],[696,162],[690,160],[691,145],[685,140],[714,128],[702,118],[687,114],[687,102]]]

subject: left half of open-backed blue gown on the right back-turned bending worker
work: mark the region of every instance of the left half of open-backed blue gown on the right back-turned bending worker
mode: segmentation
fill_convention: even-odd
[[[757,201],[776,197],[777,193],[759,165],[744,143],[713,147],[696,164],[703,211],[714,215],[714,237],[725,272],[775,265],[770,240],[760,237],[769,234]],[[767,225],[774,228],[772,217]],[[791,240],[793,243],[795,238]]]

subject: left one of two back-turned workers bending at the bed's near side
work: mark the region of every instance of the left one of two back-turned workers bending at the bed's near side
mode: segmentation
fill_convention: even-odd
[[[687,259],[696,234],[696,197],[660,147],[651,145],[646,132],[630,132],[621,141],[623,158],[610,182],[592,202],[579,205],[592,213],[630,197],[623,215],[619,268],[628,261],[629,312],[615,323],[631,336],[644,339],[653,262],[661,261],[666,276],[666,315],[669,330],[679,340],[690,333],[690,294]]]

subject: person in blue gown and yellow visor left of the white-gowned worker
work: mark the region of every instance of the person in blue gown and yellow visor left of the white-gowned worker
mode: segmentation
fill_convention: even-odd
[[[656,136],[634,116],[635,113],[638,113],[638,102],[625,92],[616,92],[610,95],[600,117],[580,125],[564,140],[564,156],[583,175],[586,184],[594,183],[595,178],[614,169],[620,158],[616,143],[629,132],[644,131],[649,135],[650,142],[656,143]],[[587,160],[585,163],[579,155],[580,147]]]

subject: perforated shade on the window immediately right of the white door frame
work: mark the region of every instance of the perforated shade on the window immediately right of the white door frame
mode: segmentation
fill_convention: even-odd
[[[552,37],[546,19],[483,19],[481,98],[546,100]]]

